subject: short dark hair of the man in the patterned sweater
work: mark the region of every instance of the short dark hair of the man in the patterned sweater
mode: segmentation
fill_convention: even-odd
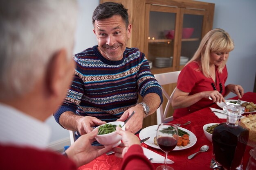
[[[106,18],[110,18],[113,15],[120,15],[126,24],[126,28],[128,28],[129,19],[128,19],[127,11],[128,9],[125,9],[123,4],[119,4],[115,2],[105,2],[105,3],[99,4],[92,14],[92,24],[94,26],[94,22],[96,20],[99,21]]]

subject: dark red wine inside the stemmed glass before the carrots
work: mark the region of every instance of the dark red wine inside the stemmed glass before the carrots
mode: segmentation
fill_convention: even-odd
[[[173,137],[159,137],[157,139],[157,144],[162,150],[164,150],[164,152],[170,152],[175,148],[177,140]]]

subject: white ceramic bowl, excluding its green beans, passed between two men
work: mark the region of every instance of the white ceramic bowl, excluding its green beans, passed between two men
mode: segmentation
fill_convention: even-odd
[[[112,125],[117,125],[119,126],[119,124],[122,126],[122,130],[125,131],[125,125],[124,125],[124,122],[120,122],[120,121],[117,121],[117,122],[108,122],[108,124],[112,124]],[[101,126],[103,126],[104,124],[102,124]],[[99,126],[97,127],[99,128]],[[108,134],[104,134],[104,135],[96,135],[95,139],[102,145],[112,145],[113,148],[118,146],[119,144],[121,144],[121,135],[119,135],[117,133],[117,131],[114,131],[114,132],[111,132],[111,133],[108,133]]]

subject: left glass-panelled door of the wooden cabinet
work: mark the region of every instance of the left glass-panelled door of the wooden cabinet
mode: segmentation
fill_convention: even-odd
[[[146,57],[151,61],[151,70],[172,68],[176,65],[174,59],[175,26],[177,25],[177,9],[158,5],[148,6],[148,19],[146,18]],[[148,26],[147,26],[148,25]],[[177,42],[176,42],[177,44]],[[170,69],[171,68],[171,69]]]

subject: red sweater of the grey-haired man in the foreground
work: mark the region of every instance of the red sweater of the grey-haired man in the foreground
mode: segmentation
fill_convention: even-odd
[[[121,170],[154,169],[139,145],[129,148],[121,166]],[[0,145],[0,170],[76,170],[76,165],[52,151]]]

